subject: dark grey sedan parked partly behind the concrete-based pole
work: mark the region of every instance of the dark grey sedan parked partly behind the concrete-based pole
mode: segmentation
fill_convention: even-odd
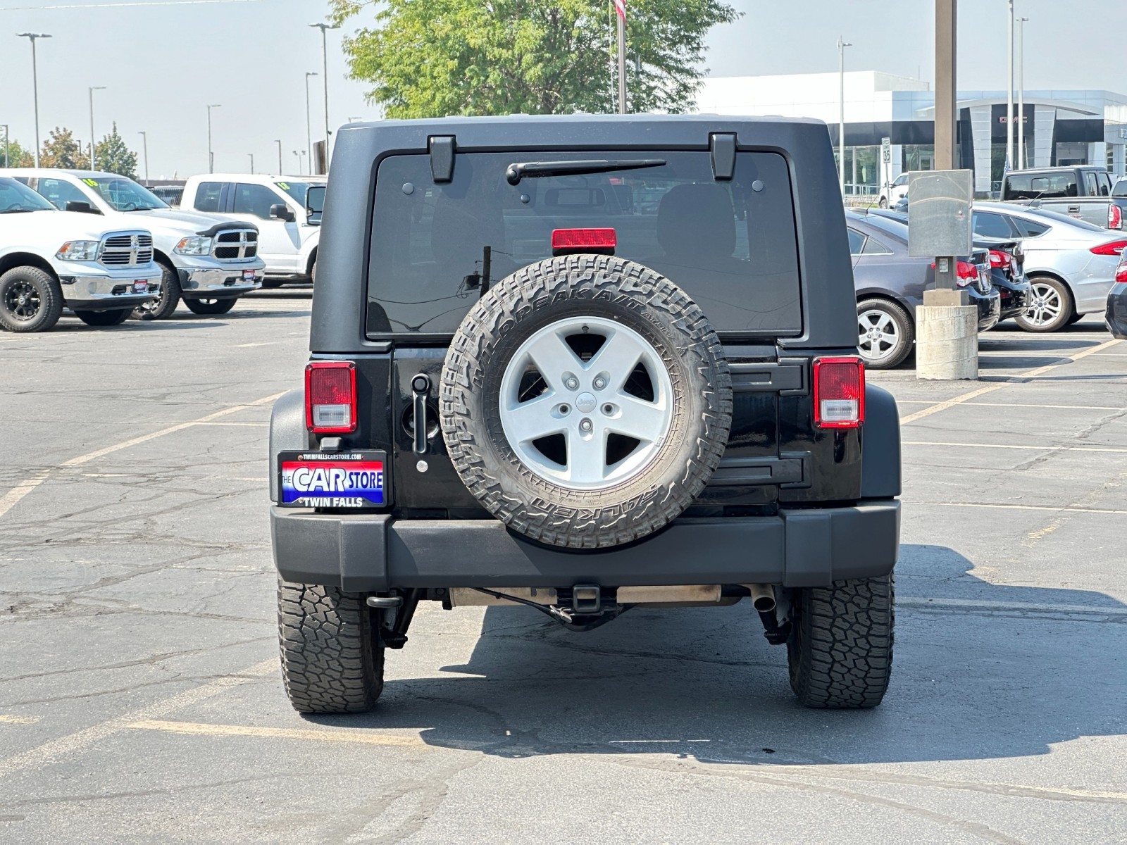
[[[866,366],[887,370],[912,354],[915,310],[923,304],[923,292],[935,286],[935,269],[931,259],[908,255],[906,223],[846,212],[845,224],[857,291],[858,349]],[[956,284],[978,308],[978,330],[994,328],[1002,317],[1002,301],[990,281],[990,250],[960,257],[956,269]]]

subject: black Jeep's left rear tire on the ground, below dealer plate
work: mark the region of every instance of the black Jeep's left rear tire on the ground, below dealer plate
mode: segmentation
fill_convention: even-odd
[[[383,643],[364,596],[278,580],[282,679],[299,713],[363,713],[383,691]]]

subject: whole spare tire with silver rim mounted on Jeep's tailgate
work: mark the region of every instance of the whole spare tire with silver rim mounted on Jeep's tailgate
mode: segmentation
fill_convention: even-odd
[[[471,493],[551,545],[629,543],[678,516],[716,470],[731,379],[700,308],[621,258],[529,265],[462,320],[442,433]]]

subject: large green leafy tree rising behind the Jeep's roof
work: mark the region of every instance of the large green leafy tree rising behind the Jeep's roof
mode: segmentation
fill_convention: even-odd
[[[330,0],[341,24],[365,0]],[[385,0],[345,38],[349,75],[388,117],[616,110],[610,0]],[[631,112],[686,112],[704,75],[704,36],[739,16],[718,0],[630,0]]]

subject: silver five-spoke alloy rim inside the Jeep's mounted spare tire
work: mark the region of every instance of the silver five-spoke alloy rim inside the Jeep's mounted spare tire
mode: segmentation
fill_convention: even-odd
[[[575,335],[604,340],[584,361],[567,343]],[[631,380],[639,365],[653,399]],[[526,376],[533,373],[543,380],[542,392],[523,398],[522,386],[527,390]],[[502,376],[499,400],[502,429],[521,462],[575,490],[601,490],[636,477],[660,451],[673,422],[673,382],[657,349],[633,329],[601,317],[557,320],[521,344]],[[628,439],[616,441],[609,455],[614,435]],[[565,463],[536,445],[558,436]],[[623,444],[628,451],[619,454]]]

